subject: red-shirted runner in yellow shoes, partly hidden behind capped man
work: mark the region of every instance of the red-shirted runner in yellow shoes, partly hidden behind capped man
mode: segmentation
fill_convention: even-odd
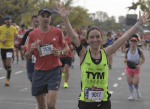
[[[62,63],[61,67],[62,67],[62,72],[63,72],[62,77],[65,79],[64,88],[68,88],[69,87],[68,86],[69,70],[70,70],[71,61],[72,61],[72,51],[71,51],[72,42],[71,42],[70,37],[67,34],[65,26],[62,26],[62,32],[64,34],[65,42],[68,44],[70,48],[70,51],[67,54],[62,55],[60,57],[60,60]]]

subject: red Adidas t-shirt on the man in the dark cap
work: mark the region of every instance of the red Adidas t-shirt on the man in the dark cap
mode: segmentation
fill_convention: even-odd
[[[50,27],[50,30],[46,33],[42,33],[39,28],[29,33],[25,42],[24,49],[30,50],[31,44],[37,42],[39,45],[52,44],[54,48],[63,48],[65,41],[63,40],[62,31],[59,28]],[[61,66],[60,57],[50,54],[47,56],[39,57],[38,49],[34,49],[34,55],[36,57],[35,69],[36,70],[52,70],[57,66]]]

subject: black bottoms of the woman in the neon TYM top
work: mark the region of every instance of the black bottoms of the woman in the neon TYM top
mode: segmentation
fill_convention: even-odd
[[[111,109],[111,101],[84,102],[79,100],[79,109]]]

